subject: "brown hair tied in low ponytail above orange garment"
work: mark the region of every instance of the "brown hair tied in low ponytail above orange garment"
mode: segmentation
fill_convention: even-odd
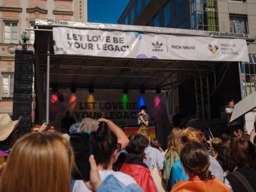
[[[212,180],[210,157],[207,150],[197,142],[185,143],[181,150],[181,162],[190,176],[197,175],[202,181]]]

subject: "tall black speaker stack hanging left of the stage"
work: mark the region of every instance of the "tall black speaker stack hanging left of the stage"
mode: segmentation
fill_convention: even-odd
[[[32,115],[33,51],[15,51],[13,120],[22,116],[19,133],[30,131]]]

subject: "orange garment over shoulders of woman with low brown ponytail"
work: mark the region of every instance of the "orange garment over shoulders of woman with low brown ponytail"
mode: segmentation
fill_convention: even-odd
[[[179,181],[176,183],[171,192],[230,192],[231,189],[226,187],[218,178],[209,181],[201,181],[198,176],[193,180]]]

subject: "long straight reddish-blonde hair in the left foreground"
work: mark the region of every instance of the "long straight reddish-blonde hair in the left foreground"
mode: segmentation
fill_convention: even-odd
[[[24,135],[7,159],[1,192],[70,192],[73,152],[58,133]]]

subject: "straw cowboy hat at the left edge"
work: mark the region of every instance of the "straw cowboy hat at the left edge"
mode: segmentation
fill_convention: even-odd
[[[11,135],[11,132],[20,123],[21,119],[22,117],[16,121],[12,121],[11,117],[9,117],[7,113],[0,114],[0,141],[4,141],[9,137],[9,135]]]

